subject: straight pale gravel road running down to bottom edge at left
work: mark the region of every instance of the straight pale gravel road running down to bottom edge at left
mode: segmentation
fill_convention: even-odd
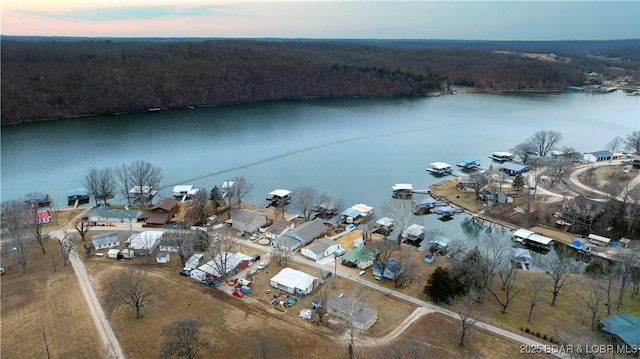
[[[63,238],[64,232],[62,230],[53,231],[49,232],[49,235],[55,236],[60,240]],[[85,267],[82,259],[80,259],[80,256],[75,251],[69,256],[69,261],[71,262],[73,271],[76,273],[76,277],[78,277],[80,289],[82,290],[82,294],[87,302],[87,307],[89,308],[93,322],[98,330],[98,334],[105,345],[106,358],[124,359],[125,356],[122,351],[122,347],[120,346],[118,338],[116,338],[116,335],[111,328],[111,324],[109,324],[109,321],[102,310],[96,291],[89,280],[87,267]]]

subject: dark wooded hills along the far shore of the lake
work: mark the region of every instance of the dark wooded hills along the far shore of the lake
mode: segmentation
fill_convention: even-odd
[[[617,41],[2,37],[1,122],[312,98],[558,91],[640,79]],[[587,74],[596,73],[598,77]]]

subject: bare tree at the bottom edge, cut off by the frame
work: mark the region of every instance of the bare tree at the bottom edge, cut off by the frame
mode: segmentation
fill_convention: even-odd
[[[209,348],[209,342],[201,333],[204,321],[201,318],[178,318],[162,327],[163,341],[160,343],[160,358],[195,359]]]

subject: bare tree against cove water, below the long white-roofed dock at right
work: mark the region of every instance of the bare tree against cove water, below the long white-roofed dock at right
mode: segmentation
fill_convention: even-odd
[[[538,267],[544,271],[545,282],[552,295],[550,304],[555,306],[560,290],[575,282],[573,275],[578,271],[576,260],[563,247],[557,247],[555,251],[536,258]]]

